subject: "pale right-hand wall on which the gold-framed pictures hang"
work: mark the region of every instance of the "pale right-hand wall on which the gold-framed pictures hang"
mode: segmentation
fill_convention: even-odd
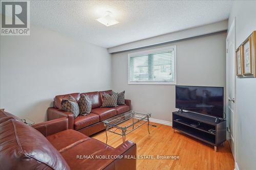
[[[234,1],[229,28],[236,17],[236,46],[256,30],[256,1]],[[240,170],[256,169],[256,78],[237,81],[237,164]]]

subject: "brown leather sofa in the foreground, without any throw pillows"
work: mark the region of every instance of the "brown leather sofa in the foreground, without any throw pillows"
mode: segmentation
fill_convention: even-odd
[[[136,169],[136,159],[125,159],[128,156],[136,157],[135,143],[125,141],[112,148],[68,129],[66,117],[31,127],[0,111],[0,169]]]

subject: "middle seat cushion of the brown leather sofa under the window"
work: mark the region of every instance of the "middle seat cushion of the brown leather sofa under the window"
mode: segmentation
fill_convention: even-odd
[[[113,117],[116,115],[116,110],[113,108],[96,108],[92,110],[92,113],[99,115],[99,121],[105,120],[107,118]]]

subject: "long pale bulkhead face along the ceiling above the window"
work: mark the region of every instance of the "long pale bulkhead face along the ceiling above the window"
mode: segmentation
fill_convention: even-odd
[[[108,48],[108,52],[117,53],[117,52],[122,52],[127,50],[133,50],[135,48],[141,48],[141,47],[157,45],[165,42],[177,41],[177,40],[182,40],[186,38],[192,38],[192,37],[217,33],[221,31],[226,31],[227,27],[228,27],[227,20],[223,20],[220,22],[215,22],[215,23],[211,23],[208,25],[200,26],[200,27],[190,28],[182,31],[177,31],[173,33],[168,33],[168,34],[159,35],[152,38],[142,39],[139,41],[134,41],[134,42],[110,47]]]

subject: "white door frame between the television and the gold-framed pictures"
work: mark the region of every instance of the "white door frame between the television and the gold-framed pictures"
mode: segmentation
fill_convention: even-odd
[[[236,50],[236,17],[234,17],[231,26],[228,30],[227,33],[227,38],[226,38],[226,114],[227,114],[227,110],[228,110],[228,91],[229,91],[229,87],[228,87],[228,38],[232,35],[231,31],[234,32],[234,51]],[[233,130],[234,130],[234,134],[233,134],[233,140],[234,140],[234,163],[236,164],[236,158],[237,158],[237,77],[236,77],[236,58],[235,58],[235,52],[233,51],[233,69],[234,69],[234,86],[233,86],[233,95],[234,95],[234,115],[233,115]],[[230,133],[230,131],[228,131],[228,133]]]

